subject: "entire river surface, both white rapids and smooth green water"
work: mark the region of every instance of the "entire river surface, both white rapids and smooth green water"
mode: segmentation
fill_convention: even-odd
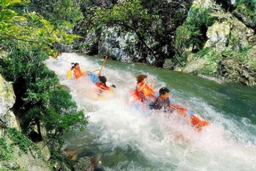
[[[108,60],[103,73],[117,86],[117,95],[95,101],[90,99],[94,86],[87,78],[65,80],[63,70],[71,62],[93,70],[102,60],[63,54],[58,62],[47,61],[62,84],[70,87],[79,108],[90,116],[85,132],[67,136],[66,148],[77,150],[79,157],[100,154],[105,170],[256,170],[255,88]],[[141,115],[128,104],[137,74],[155,79],[156,91],[162,86],[171,89],[171,97],[201,113],[210,126],[197,133],[188,124],[166,119],[163,113]],[[188,142],[175,140],[175,132],[181,132]]]

